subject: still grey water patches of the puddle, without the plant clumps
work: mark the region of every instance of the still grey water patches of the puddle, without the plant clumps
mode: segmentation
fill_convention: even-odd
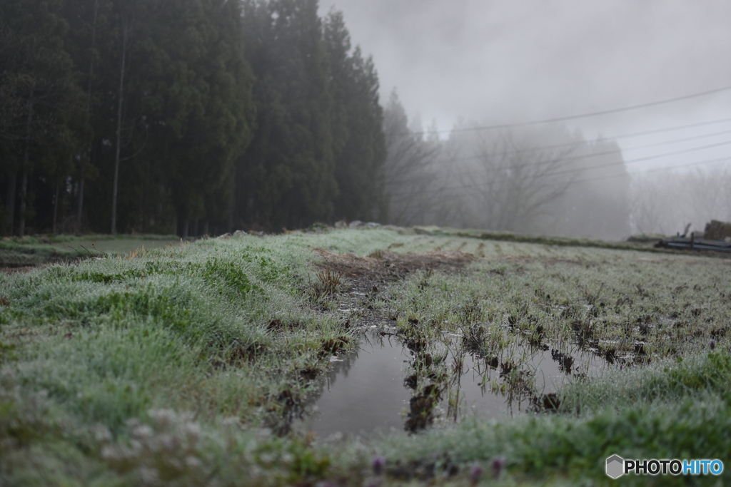
[[[467,415],[502,418],[531,410],[531,396],[508,387],[500,367],[489,367],[485,358],[450,349],[448,344],[439,348],[446,357],[449,375],[442,377],[445,386],[433,410],[435,423],[460,421]],[[520,369],[528,372],[533,396],[556,391],[570,375],[594,375],[604,367],[604,361],[582,352],[577,345],[564,350],[572,357],[572,364],[552,355],[550,349],[526,346],[517,353],[523,355]],[[314,432],[319,438],[333,434],[370,437],[389,429],[404,430],[409,399],[418,390],[404,383],[414,373],[415,354],[411,350],[395,336],[371,331],[355,353],[333,356],[332,360],[330,372],[318,379],[322,392],[314,394],[311,413],[298,420],[295,429]]]

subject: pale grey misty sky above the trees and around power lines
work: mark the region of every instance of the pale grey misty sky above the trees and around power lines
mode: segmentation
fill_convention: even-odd
[[[374,56],[382,101],[395,87],[409,115],[440,130],[459,118],[541,120],[731,86],[727,0],[320,2],[323,13],[341,10],[353,44]],[[731,118],[730,109],[731,89],[569,126],[614,137]],[[731,120],[618,140],[630,172],[731,156],[730,144],[634,161],[727,141]],[[673,143],[630,150],[665,142]]]

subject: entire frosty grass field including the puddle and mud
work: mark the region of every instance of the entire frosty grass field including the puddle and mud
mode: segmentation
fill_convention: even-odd
[[[0,273],[1,485],[731,481],[605,473],[728,464],[727,258],[382,227],[68,260]]]

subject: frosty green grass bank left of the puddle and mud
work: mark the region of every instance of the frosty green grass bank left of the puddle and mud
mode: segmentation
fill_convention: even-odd
[[[300,372],[316,375],[333,348],[352,341],[336,315],[303,297],[315,279],[312,259],[295,237],[241,237],[0,276],[0,362],[10,394],[0,407],[0,448],[14,459],[0,469],[4,478],[31,475],[36,461],[48,463],[38,474],[48,473],[46,480],[65,475],[53,471],[73,468],[56,458],[61,448],[106,466],[79,467],[85,475],[102,468],[136,483],[153,460],[123,446],[132,438],[134,450],[137,441],[129,421],[154,429],[161,410],[198,429],[236,418],[227,429],[237,424],[259,445],[254,432],[281,428],[306,393]],[[98,431],[118,445],[104,450]],[[274,450],[262,468],[295,448],[289,440],[262,445]],[[25,448],[38,452],[27,456]],[[189,452],[194,464],[196,452]],[[135,454],[140,463],[118,458]],[[317,472],[312,463],[301,473]],[[192,482],[187,468],[173,469],[183,483]]]

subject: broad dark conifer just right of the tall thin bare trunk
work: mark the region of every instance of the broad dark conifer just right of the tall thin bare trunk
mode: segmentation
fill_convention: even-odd
[[[251,138],[252,77],[238,4],[173,0],[143,49],[143,104],[154,169],[172,191],[181,230],[225,221],[233,164]],[[186,231],[186,227],[188,231]]]

